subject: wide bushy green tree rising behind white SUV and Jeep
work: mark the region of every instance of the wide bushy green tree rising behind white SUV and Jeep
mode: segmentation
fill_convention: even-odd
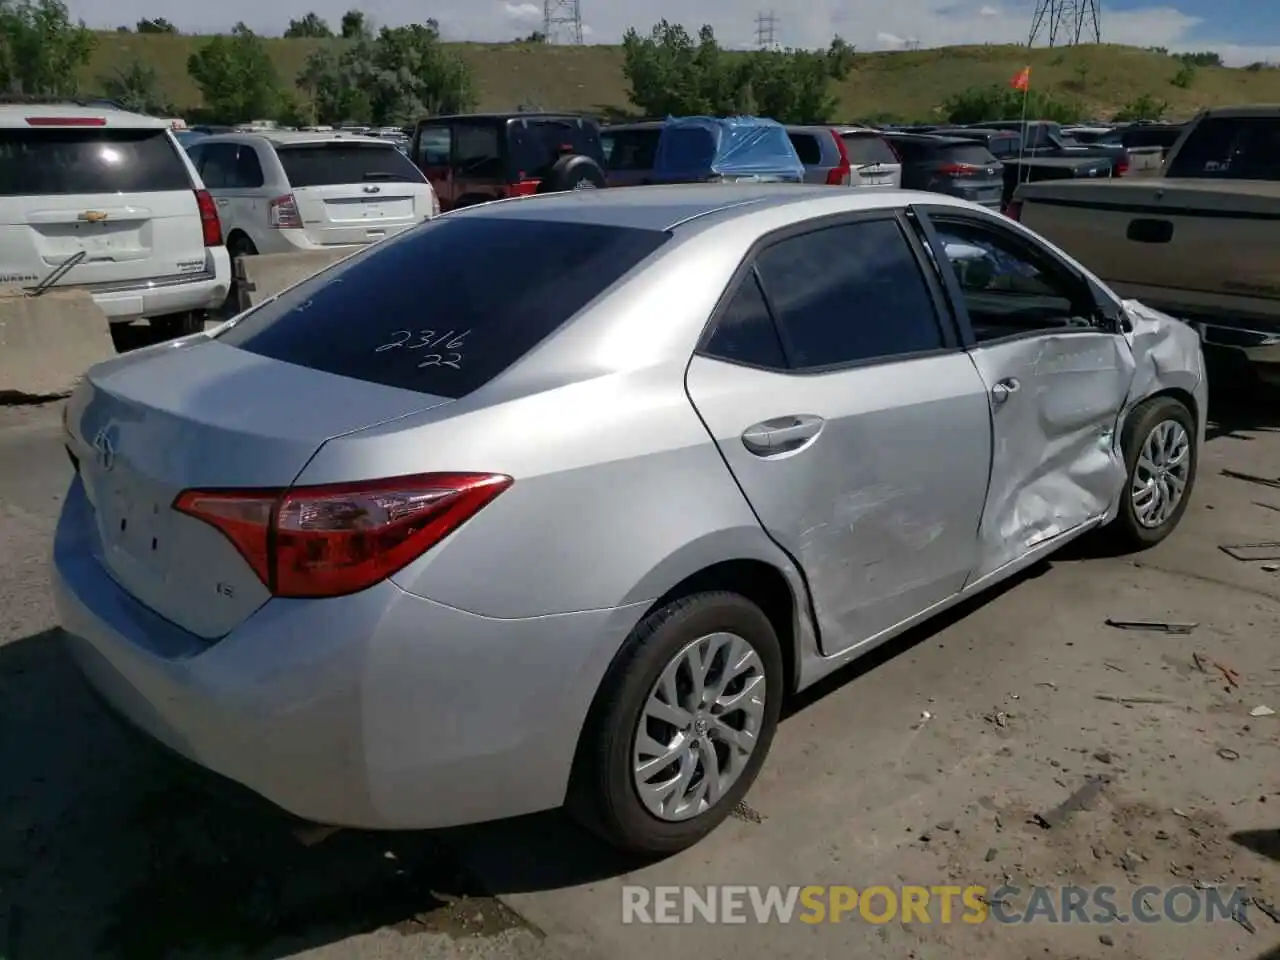
[[[298,86],[311,95],[319,123],[383,125],[475,105],[471,72],[440,44],[434,20],[383,27],[376,38],[360,38],[338,56],[317,50]]]

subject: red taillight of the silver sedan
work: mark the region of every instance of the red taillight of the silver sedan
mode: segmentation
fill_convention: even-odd
[[[187,490],[173,506],[230,540],[274,596],[343,596],[403,570],[511,484],[500,474],[425,474],[289,490]]]

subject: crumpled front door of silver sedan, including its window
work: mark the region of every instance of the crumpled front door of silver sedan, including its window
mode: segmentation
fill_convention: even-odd
[[[993,216],[924,210],[991,403],[995,456],[973,582],[1107,513],[1126,476],[1116,429],[1134,361],[1074,268]]]

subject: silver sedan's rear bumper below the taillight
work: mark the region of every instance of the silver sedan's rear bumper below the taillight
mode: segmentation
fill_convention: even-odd
[[[271,600],[207,644],[108,576],[91,511],[74,481],[54,541],[55,602],[86,678],[164,746],[325,824],[413,829],[558,806],[591,698],[643,613],[492,620],[384,581]]]

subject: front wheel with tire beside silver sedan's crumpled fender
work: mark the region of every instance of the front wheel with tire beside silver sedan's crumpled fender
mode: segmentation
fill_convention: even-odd
[[[1126,550],[1144,550],[1169,536],[1187,512],[1199,440],[1196,417],[1172,397],[1140,403],[1120,435],[1125,489],[1108,532]]]

